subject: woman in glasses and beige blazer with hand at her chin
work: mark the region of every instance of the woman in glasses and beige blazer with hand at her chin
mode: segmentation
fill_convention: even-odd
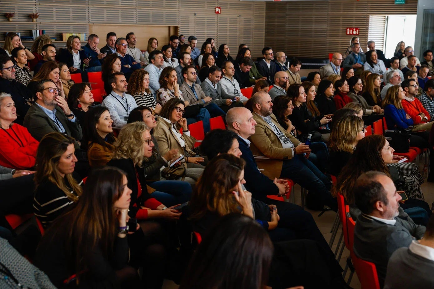
[[[184,155],[181,162],[186,168],[186,175],[197,181],[204,169],[200,164],[204,162],[204,158],[197,157],[192,150],[196,139],[190,135],[187,120],[182,117],[183,112],[183,101],[179,98],[169,100],[161,110],[152,136],[155,137],[163,156],[171,149],[178,149],[178,152]]]

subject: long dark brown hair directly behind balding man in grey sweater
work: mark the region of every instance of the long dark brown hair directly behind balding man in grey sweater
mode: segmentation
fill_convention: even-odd
[[[354,204],[354,185],[360,175],[369,171],[378,171],[390,176],[381,156],[381,150],[385,144],[385,137],[378,134],[359,140],[350,160],[339,174],[337,184],[332,188],[332,195],[336,196],[340,192],[345,201],[352,205]]]

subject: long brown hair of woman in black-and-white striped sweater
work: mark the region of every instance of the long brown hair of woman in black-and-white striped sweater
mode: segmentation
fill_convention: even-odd
[[[36,153],[35,190],[43,182],[49,181],[60,188],[69,200],[78,200],[78,197],[72,194],[71,190],[80,196],[82,188],[72,177],[72,174],[65,174],[65,178],[71,186],[71,188],[68,188],[57,167],[62,154],[66,152],[70,144],[74,143],[75,140],[72,137],[57,132],[48,133],[42,138]]]

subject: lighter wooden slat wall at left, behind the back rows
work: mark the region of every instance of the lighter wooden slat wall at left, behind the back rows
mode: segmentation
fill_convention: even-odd
[[[222,8],[222,14],[214,13],[216,6]],[[249,45],[253,55],[260,56],[265,6],[265,2],[238,0],[0,0],[0,43],[3,45],[5,31],[30,36],[31,29],[45,29],[60,40],[62,32],[89,35],[89,24],[93,23],[113,24],[114,32],[116,24],[162,25],[179,26],[186,37],[195,35],[199,49],[207,37],[213,37],[217,48],[227,43],[233,57],[242,42]],[[3,17],[6,12],[16,13],[13,22]],[[28,14],[35,12],[40,16],[32,23]],[[140,36],[140,32],[135,33]],[[104,42],[104,36],[100,38]],[[160,42],[159,47],[163,44]]]

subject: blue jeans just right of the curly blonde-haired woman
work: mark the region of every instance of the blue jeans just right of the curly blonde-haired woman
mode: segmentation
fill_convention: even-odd
[[[191,185],[182,181],[157,181],[149,185],[157,191],[151,196],[161,201],[166,207],[185,203],[191,198]]]

